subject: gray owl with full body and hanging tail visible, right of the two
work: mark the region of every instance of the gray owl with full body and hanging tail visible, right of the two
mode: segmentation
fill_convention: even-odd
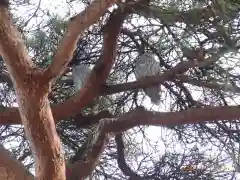
[[[144,53],[136,59],[135,77],[137,80],[147,76],[154,76],[161,73],[161,67],[155,60],[152,53]],[[145,94],[151,99],[152,103],[158,105],[161,101],[161,85],[152,86],[144,89]]]

